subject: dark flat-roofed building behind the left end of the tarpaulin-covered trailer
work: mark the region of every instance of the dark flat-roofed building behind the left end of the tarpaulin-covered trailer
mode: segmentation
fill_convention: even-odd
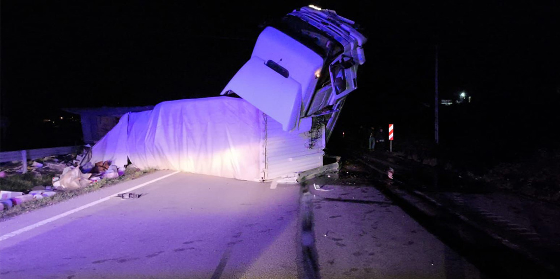
[[[152,110],[153,106],[128,108],[66,108],[69,113],[79,114],[82,122],[83,142],[96,143],[109,132],[125,113]]]

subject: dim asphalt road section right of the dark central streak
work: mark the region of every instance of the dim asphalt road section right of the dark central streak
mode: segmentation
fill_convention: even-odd
[[[311,199],[321,278],[487,278],[375,188],[321,184]]]

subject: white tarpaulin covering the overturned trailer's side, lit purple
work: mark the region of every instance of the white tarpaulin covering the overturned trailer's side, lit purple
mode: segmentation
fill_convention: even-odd
[[[92,162],[259,180],[262,113],[243,99],[166,101],[123,115],[92,148]]]

